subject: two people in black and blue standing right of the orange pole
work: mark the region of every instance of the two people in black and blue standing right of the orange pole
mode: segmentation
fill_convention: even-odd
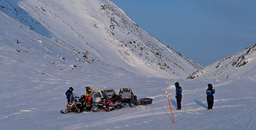
[[[177,102],[177,109],[181,109],[181,100],[182,100],[182,87],[180,87],[180,84],[178,82],[175,83],[176,87],[176,102]],[[215,89],[213,89],[213,85],[210,83],[208,84],[208,89],[206,89],[206,100],[207,100],[207,105],[208,109],[213,109],[213,94],[215,93]]]

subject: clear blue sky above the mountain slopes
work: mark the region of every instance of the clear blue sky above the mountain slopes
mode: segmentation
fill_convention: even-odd
[[[256,43],[256,1],[110,1],[143,30],[203,66]]]

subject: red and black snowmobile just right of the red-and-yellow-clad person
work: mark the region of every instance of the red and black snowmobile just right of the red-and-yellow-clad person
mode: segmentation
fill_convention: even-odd
[[[92,111],[112,111],[114,109],[121,109],[122,108],[122,102],[120,98],[118,98],[117,95],[113,94],[112,96],[108,96],[107,98],[103,98],[102,101],[98,102],[96,107],[92,108]]]

